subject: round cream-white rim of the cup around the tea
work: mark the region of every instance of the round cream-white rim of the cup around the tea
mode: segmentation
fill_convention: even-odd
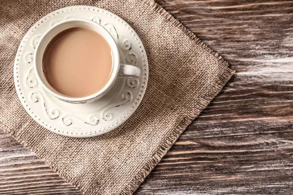
[[[115,60],[113,62],[113,70],[112,70],[112,73],[111,73],[111,77],[110,79],[108,80],[108,82],[105,84],[105,86],[99,90],[98,92],[92,94],[92,95],[89,95],[89,96],[85,96],[85,97],[81,97],[81,98],[73,98],[73,97],[68,97],[68,96],[65,96],[61,93],[56,93],[55,91],[53,91],[52,89],[50,89],[49,87],[47,87],[43,81],[42,81],[42,78],[40,77],[39,75],[39,72],[37,70],[37,66],[40,66],[40,64],[38,65],[37,62],[36,62],[36,57],[39,52],[39,46],[41,45],[40,43],[42,42],[42,40],[49,34],[50,31],[52,31],[54,28],[57,28],[58,26],[60,25],[63,25],[65,23],[68,23],[68,22],[74,22],[74,21],[82,21],[82,22],[88,22],[88,23],[91,23],[92,25],[95,25],[97,26],[101,31],[104,31],[106,34],[108,34],[109,36],[109,39],[111,39],[111,41],[114,42],[114,44],[111,44],[109,43],[109,40],[106,39],[106,41],[108,42],[108,44],[110,45],[111,47],[111,51],[112,51],[112,57],[113,57],[113,60]],[[73,27],[70,27],[70,28],[73,28]],[[91,30],[99,33],[98,31],[90,28]],[[66,29],[63,29],[63,30],[66,30]],[[62,31],[63,31],[62,30]],[[62,31],[60,31],[59,33],[61,33]],[[58,33],[58,34],[59,34]],[[99,33],[100,34],[100,33]],[[55,35],[56,36],[56,35]],[[55,37],[54,36],[54,37]],[[53,39],[54,37],[52,37],[51,39]],[[47,43],[48,44],[48,43]],[[47,46],[47,45],[46,45]],[[43,54],[42,54],[43,55]],[[119,65],[120,65],[120,56],[119,56],[119,50],[118,50],[118,47],[116,45],[116,42],[115,40],[113,39],[113,37],[111,36],[111,34],[100,24],[92,21],[92,20],[87,20],[87,19],[67,19],[67,20],[63,20],[61,22],[58,22],[57,24],[51,26],[43,35],[42,37],[39,39],[38,41],[38,44],[36,46],[36,49],[35,49],[35,53],[34,53],[34,57],[33,57],[33,61],[34,61],[34,71],[35,71],[35,74],[36,74],[36,77],[38,79],[38,81],[41,83],[42,87],[48,91],[50,94],[52,94],[53,96],[55,96],[56,98],[59,98],[59,99],[62,99],[62,100],[65,100],[65,101],[68,101],[68,102],[83,102],[83,101],[88,101],[88,100],[91,100],[91,99],[94,99],[96,97],[99,97],[101,95],[103,95],[105,92],[107,92],[111,86],[113,85],[113,83],[115,82],[117,76],[118,76],[118,72],[119,72]],[[42,65],[42,64],[41,64]]]

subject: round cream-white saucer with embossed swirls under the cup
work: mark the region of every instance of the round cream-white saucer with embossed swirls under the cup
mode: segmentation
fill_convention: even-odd
[[[35,76],[34,50],[49,27],[71,18],[89,19],[103,25],[118,45],[121,63],[139,67],[140,78],[117,78],[112,89],[92,103],[67,103],[48,94]],[[69,137],[98,136],[125,122],[140,104],[147,78],[145,48],[134,30],[115,14],[92,6],[65,7],[43,17],[22,39],[14,63],[15,87],[25,110],[44,128]]]

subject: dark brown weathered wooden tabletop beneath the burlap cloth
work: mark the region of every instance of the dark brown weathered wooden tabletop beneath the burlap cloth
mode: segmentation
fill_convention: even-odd
[[[136,191],[293,194],[293,1],[158,0],[236,74]],[[0,131],[0,195],[80,195]]]

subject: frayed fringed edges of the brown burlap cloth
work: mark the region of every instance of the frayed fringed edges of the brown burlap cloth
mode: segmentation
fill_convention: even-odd
[[[189,31],[184,25],[182,25],[178,20],[176,20],[172,15],[170,15],[163,7],[161,7],[155,1],[143,0],[143,4],[150,4],[151,8],[158,12],[161,16],[163,16],[166,21],[169,21],[171,24],[180,28],[186,35],[188,35],[189,39],[195,40],[196,44],[201,46],[205,51],[214,56],[217,60],[222,62],[226,67],[223,69],[221,75],[216,78],[212,84],[207,88],[204,94],[199,98],[197,104],[195,104],[194,109],[190,111],[186,116],[182,118],[182,121],[178,124],[173,131],[162,141],[161,145],[157,148],[156,152],[151,156],[151,158],[146,162],[146,164],[141,168],[136,176],[126,185],[124,190],[121,191],[120,194],[127,195],[133,194],[134,191],[139,187],[139,185],[145,180],[146,176],[151,172],[151,170],[160,162],[163,156],[166,155],[167,151],[171,148],[171,146],[175,143],[177,138],[183,133],[183,131],[188,127],[188,125],[199,115],[199,113],[205,109],[209,102],[221,91],[226,82],[231,78],[234,74],[230,68],[228,68],[229,63],[225,61],[218,53],[212,51],[205,43],[203,43],[200,39],[198,39],[191,31]],[[19,140],[19,135],[11,129],[7,129],[5,126],[2,126],[0,121],[0,129],[4,130],[6,133],[10,134],[13,138],[15,138],[21,145],[28,148],[28,145],[25,141]],[[32,152],[37,151],[36,148],[29,148]],[[36,153],[35,153],[36,154]],[[41,156],[37,157],[41,158]],[[43,159],[42,159],[43,160]],[[84,192],[83,186],[79,184],[75,185],[72,183],[70,178],[67,178],[66,175],[60,172],[57,168],[55,168],[51,163],[46,160],[43,160],[46,165],[48,165],[53,171],[55,171],[61,178],[70,183],[76,189],[80,190],[82,193]]]

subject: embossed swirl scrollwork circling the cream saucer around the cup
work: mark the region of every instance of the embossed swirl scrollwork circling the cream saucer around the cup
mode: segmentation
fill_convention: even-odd
[[[74,18],[74,17],[69,17],[69,18]],[[69,19],[67,18],[67,19]],[[115,39],[115,41],[118,43],[118,46],[124,50],[124,51],[130,51],[132,49],[132,43],[130,40],[124,38],[123,35],[121,35],[121,37],[119,37],[116,28],[110,24],[110,23],[104,23],[102,24],[102,20],[98,17],[93,17],[91,19],[94,22],[99,23],[100,25],[102,25],[111,35],[112,37]],[[51,23],[51,26],[57,24],[60,21],[53,21]],[[33,48],[35,49],[37,46],[37,43],[39,41],[39,39],[41,38],[41,36],[37,36],[36,38],[32,39],[32,45]],[[28,53],[25,56],[25,60],[27,64],[31,64],[33,62],[33,52]],[[125,60],[128,64],[130,65],[134,65],[136,66],[138,58],[137,55],[134,52],[129,52],[126,57]],[[35,78],[35,74],[34,74],[34,70],[33,67],[30,69],[30,71],[27,73],[27,77],[26,77],[26,84],[28,87],[30,88],[34,88],[37,84],[38,81]],[[139,79],[137,78],[127,78],[126,79],[126,84],[129,88],[136,88],[139,85]],[[102,119],[105,121],[109,121],[113,118],[113,113],[110,111],[112,108],[115,107],[119,107],[122,106],[126,103],[128,103],[132,98],[132,92],[131,91],[126,91],[126,92],[122,92],[121,96],[121,102],[115,106],[110,106],[107,107],[106,109],[104,109],[102,111]],[[42,102],[42,108],[44,113],[46,114],[46,116],[48,118],[50,118],[51,120],[55,120],[60,116],[60,111],[55,109],[55,108],[50,108],[49,110],[47,110],[47,107],[45,105],[45,100],[42,96],[42,93],[40,91],[35,91],[30,95],[30,99],[32,100],[32,102],[34,103],[40,103],[40,101]],[[63,115],[63,117],[61,118],[62,120],[62,124],[65,126],[70,126],[72,124],[74,124],[75,122],[82,122],[88,125],[98,125],[99,124],[99,118],[96,115],[90,115],[86,121],[78,118],[78,117],[74,117],[74,116],[67,116],[67,115]]]

